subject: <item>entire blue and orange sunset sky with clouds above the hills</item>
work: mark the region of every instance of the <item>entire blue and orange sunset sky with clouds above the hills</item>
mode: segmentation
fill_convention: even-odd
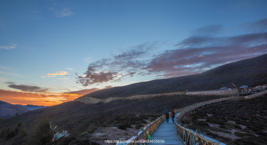
[[[0,100],[52,106],[267,53],[266,0],[0,1]]]

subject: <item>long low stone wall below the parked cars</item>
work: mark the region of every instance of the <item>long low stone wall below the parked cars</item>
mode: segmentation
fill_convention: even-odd
[[[187,95],[229,95],[229,94],[237,94],[237,89],[231,89],[231,90],[206,90],[206,91],[192,91],[192,92],[186,92]]]

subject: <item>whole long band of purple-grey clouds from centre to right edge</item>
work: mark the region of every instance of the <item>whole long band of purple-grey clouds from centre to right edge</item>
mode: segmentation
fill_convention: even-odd
[[[245,34],[227,36],[224,32],[228,30],[222,25],[208,25],[192,30],[192,35],[177,44],[156,41],[121,49],[119,54],[90,63],[84,74],[76,74],[76,80],[88,86],[135,75],[178,77],[259,56],[267,53],[266,22],[264,19],[240,25],[240,29],[258,26],[258,31]],[[169,50],[157,51],[163,47]]]

